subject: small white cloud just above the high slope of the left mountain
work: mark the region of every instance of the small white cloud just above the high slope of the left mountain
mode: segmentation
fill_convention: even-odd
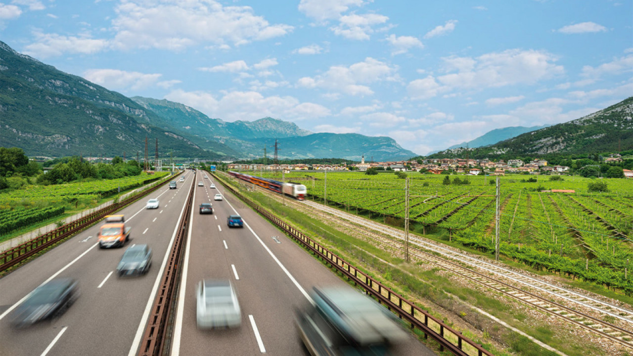
[[[25,47],[25,54],[35,58],[61,56],[64,53],[92,54],[109,48],[108,41],[92,39],[89,35],[63,36],[34,32],[35,42]]]

